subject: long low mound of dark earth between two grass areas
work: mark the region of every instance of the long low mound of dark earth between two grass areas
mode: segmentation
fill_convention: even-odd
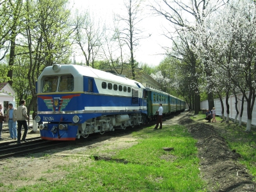
[[[201,177],[207,182],[209,191],[256,191],[252,175],[238,163],[241,156],[228,148],[227,141],[218,132],[218,125],[195,123],[191,115],[187,113],[180,118],[180,124],[185,125],[197,140]]]

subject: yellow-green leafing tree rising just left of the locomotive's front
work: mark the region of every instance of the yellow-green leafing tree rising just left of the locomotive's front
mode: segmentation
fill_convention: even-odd
[[[71,55],[68,41],[72,29],[68,25],[70,11],[66,8],[68,0],[26,1],[24,6],[23,47],[29,58],[28,81],[32,99],[28,104],[28,113],[33,106],[36,109],[36,80],[44,67],[54,63],[67,63]],[[22,49],[20,49],[22,51]],[[34,111],[33,116],[35,116]]]

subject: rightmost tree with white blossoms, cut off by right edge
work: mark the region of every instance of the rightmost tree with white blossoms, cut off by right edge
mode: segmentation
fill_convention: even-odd
[[[251,130],[252,110],[255,102],[256,78],[256,8],[255,3],[233,1],[221,9],[220,14],[205,19],[202,33],[209,34],[207,47],[198,43],[200,52],[207,54],[207,62],[214,66],[225,86],[239,88],[247,102],[246,131]],[[205,38],[199,38],[204,39]],[[205,56],[202,57],[204,60]],[[218,77],[218,76],[216,76]],[[219,78],[219,80],[220,80]],[[218,85],[216,85],[218,86]],[[227,90],[227,88],[225,88]]]

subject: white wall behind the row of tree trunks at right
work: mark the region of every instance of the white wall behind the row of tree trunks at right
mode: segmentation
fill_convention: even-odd
[[[237,116],[237,120],[239,120],[240,111],[241,111],[241,100],[242,100],[243,94],[239,93],[237,94],[237,109],[239,111],[239,115]],[[226,97],[222,98],[223,105],[224,105],[224,115],[227,116],[227,107],[226,107]],[[235,96],[230,95],[228,98],[228,104],[229,104],[229,118],[235,118],[236,117],[236,106],[235,106]],[[256,125],[256,108],[255,108],[256,102],[253,106],[253,112],[252,112],[252,125]],[[216,115],[221,116],[221,103],[220,99],[214,99],[214,107],[216,108]],[[208,109],[208,100],[204,100],[200,103],[201,109]],[[210,109],[211,110],[211,109]],[[243,110],[243,116],[242,116],[242,122],[247,122],[247,102],[244,99],[244,110]]]

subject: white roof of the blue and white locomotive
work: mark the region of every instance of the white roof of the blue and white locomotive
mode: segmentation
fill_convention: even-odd
[[[126,77],[116,76],[115,74],[111,74],[109,72],[104,72],[102,70],[98,70],[92,67],[88,66],[81,66],[81,65],[61,65],[61,74],[72,74],[74,77],[77,76],[87,76],[87,77],[93,77],[97,79],[102,79],[103,81],[109,81],[113,83],[119,83],[119,84],[126,84],[129,86],[136,86],[136,84],[139,84],[141,88],[144,88],[144,86],[139,83],[138,81],[134,81],[132,79],[128,79]],[[46,67],[44,69],[44,76],[45,74],[47,76],[49,75],[56,75],[56,72],[52,70],[52,66]],[[138,86],[136,86],[138,88]]]

